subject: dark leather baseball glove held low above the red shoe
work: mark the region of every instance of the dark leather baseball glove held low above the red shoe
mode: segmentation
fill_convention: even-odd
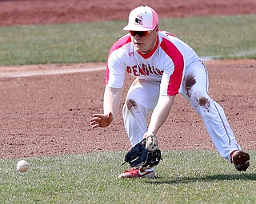
[[[150,168],[158,165],[161,159],[158,141],[155,135],[149,135],[127,152],[122,164],[130,163],[130,167]]]

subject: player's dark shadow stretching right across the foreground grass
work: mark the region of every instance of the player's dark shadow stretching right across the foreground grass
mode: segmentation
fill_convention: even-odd
[[[146,179],[145,182],[154,184],[175,184],[175,183],[190,183],[190,182],[214,182],[214,181],[230,181],[230,180],[256,180],[256,174],[241,174],[241,175],[207,175],[202,177],[170,177],[165,179],[158,176],[155,179]]]

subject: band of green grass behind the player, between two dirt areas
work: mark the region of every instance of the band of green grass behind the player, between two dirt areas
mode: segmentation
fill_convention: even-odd
[[[199,56],[255,58],[256,14],[161,19]],[[0,65],[106,61],[126,22],[0,27]]]

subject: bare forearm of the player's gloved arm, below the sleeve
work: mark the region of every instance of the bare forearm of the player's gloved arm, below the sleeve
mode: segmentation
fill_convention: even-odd
[[[144,135],[156,135],[159,128],[166,121],[170,113],[170,108],[174,104],[175,96],[159,96],[158,103],[151,116],[150,125],[147,133]]]

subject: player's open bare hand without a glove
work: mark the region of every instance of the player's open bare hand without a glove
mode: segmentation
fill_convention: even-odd
[[[106,128],[114,120],[112,112],[107,115],[94,114],[93,118],[90,119],[90,125],[92,128]]]

